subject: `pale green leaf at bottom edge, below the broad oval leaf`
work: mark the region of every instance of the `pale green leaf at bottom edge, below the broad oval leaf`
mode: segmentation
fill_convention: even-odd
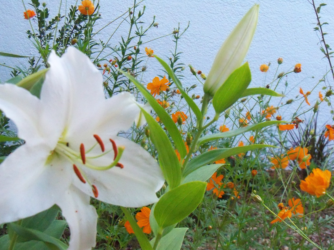
[[[188,230],[187,227],[174,228],[159,241],[157,250],[180,250],[184,235]],[[155,238],[151,240],[151,245],[154,245]]]

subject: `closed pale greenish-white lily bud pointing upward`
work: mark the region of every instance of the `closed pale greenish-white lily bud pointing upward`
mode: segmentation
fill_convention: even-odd
[[[213,61],[204,83],[204,93],[214,96],[234,70],[240,67],[258,23],[259,5],[254,5],[235,26]]]

